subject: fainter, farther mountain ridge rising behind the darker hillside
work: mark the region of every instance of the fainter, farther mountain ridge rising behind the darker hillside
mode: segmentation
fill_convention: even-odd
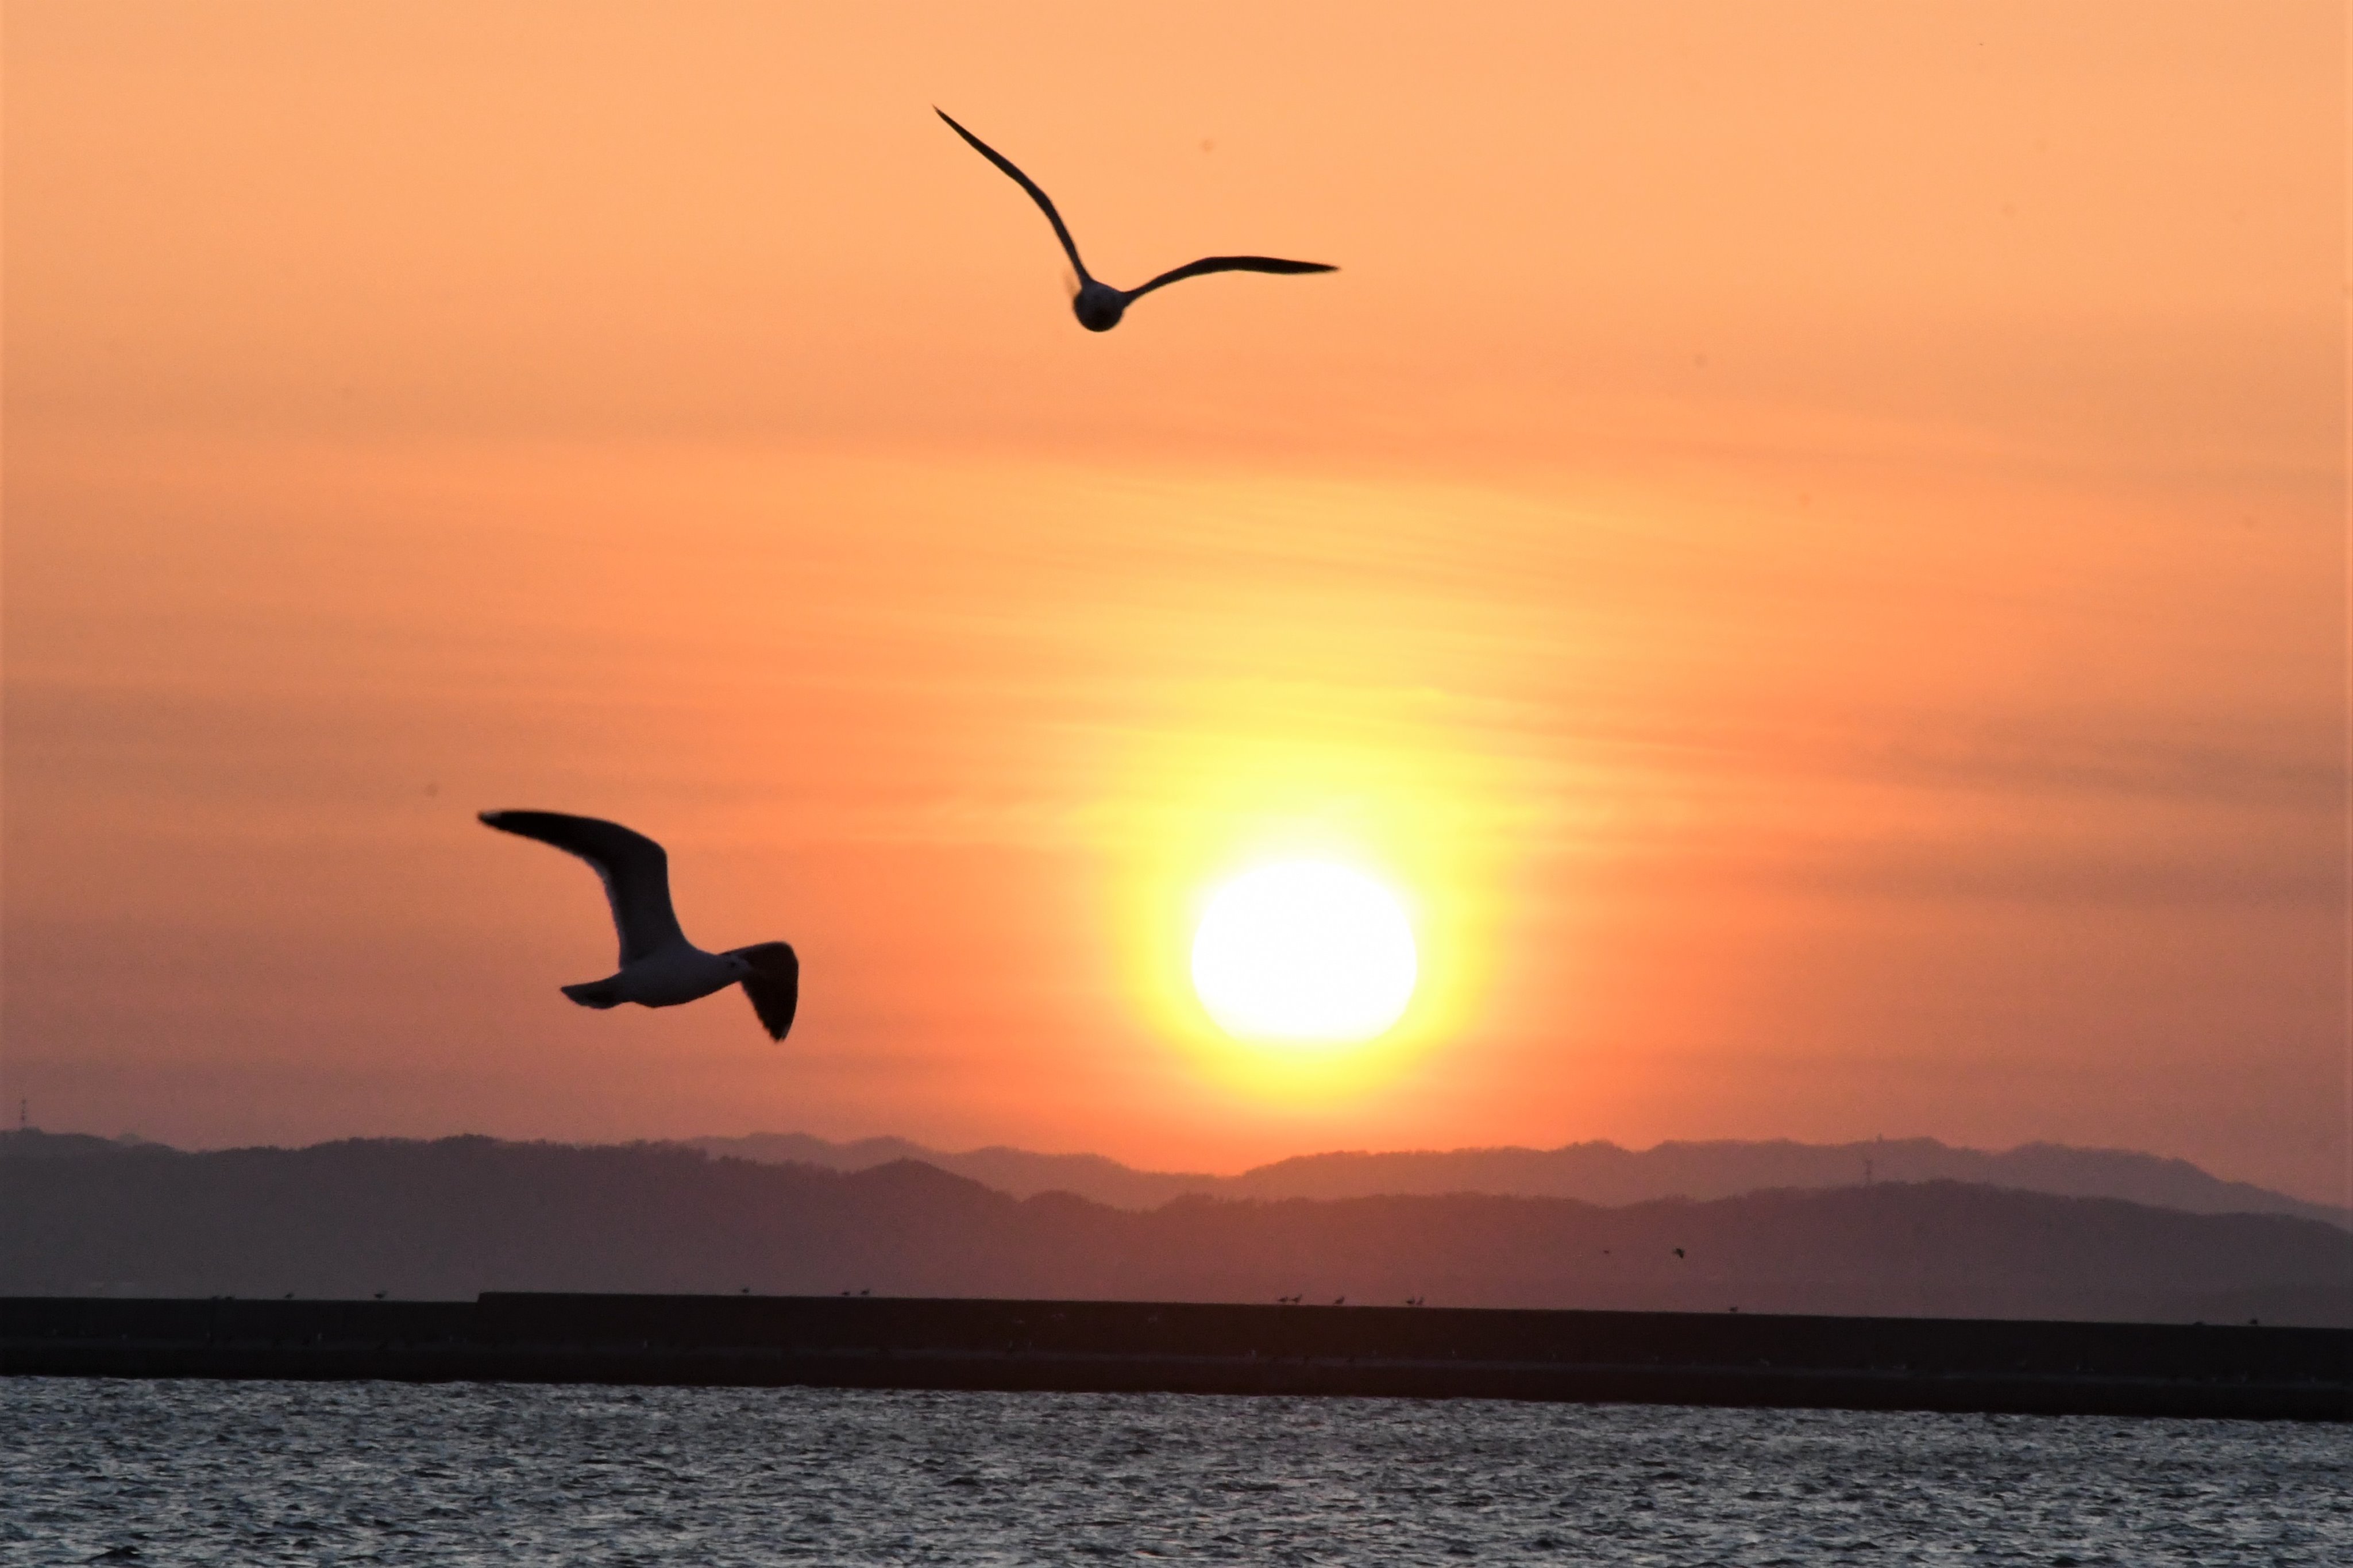
[[[1033,1154],[1002,1145],[946,1152],[906,1138],[828,1143],[809,1133],[751,1133],[692,1138],[687,1147],[729,1159],[828,1171],[866,1171],[894,1159],[920,1159],[1012,1197],[1075,1192],[1113,1208],[1158,1208],[1176,1197],[1353,1199],[1454,1192],[1621,1206],[1671,1197],[1725,1199],[1784,1187],[1944,1180],[2052,1197],[2125,1199],[2184,1213],[2282,1213],[2353,1229],[2353,1213],[2344,1208],[2224,1180],[2186,1159],[2059,1143],[2028,1143],[2000,1152],[1960,1150],[1934,1138],[1828,1145],[1718,1140],[1661,1143],[1649,1150],[1572,1143],[1558,1150],[1337,1152],[1278,1159],[1240,1175],[1136,1171],[1101,1154]]]

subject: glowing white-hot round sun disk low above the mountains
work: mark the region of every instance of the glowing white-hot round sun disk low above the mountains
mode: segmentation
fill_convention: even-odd
[[[1193,990],[1235,1039],[1355,1044],[1414,997],[1414,931],[1372,877],[1325,860],[1242,872],[1193,936]]]

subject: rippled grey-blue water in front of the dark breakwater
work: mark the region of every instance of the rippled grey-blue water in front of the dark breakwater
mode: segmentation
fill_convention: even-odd
[[[2353,1563],[2353,1432],[0,1380],[5,1563]]]

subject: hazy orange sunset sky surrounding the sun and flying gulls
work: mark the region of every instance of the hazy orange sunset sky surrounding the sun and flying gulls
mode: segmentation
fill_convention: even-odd
[[[1932,1133],[2341,1197],[2334,5],[9,5],[52,1128],[1233,1168]],[[1078,329],[1040,216],[1139,282]],[[666,839],[802,1023],[581,1013]],[[1181,994],[1266,846],[1424,997]]]

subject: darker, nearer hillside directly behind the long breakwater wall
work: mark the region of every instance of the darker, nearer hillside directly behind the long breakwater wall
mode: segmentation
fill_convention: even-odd
[[[1682,1248],[1678,1258],[1673,1248]],[[1012,1199],[579,1150],[332,1143],[21,1159],[0,1293],[739,1291],[2353,1324],[2353,1237],[1958,1182],[1598,1208],[1569,1199]]]

